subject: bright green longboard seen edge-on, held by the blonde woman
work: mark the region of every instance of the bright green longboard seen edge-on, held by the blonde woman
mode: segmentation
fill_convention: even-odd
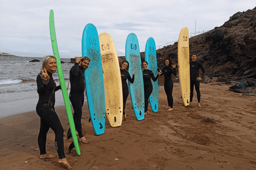
[[[53,50],[54,57],[56,57],[56,59],[57,59],[58,76],[59,76],[62,95],[63,95],[63,99],[64,99],[64,103],[65,103],[65,107],[66,107],[66,111],[67,111],[67,115],[68,115],[70,131],[71,131],[72,138],[73,138],[73,141],[75,144],[76,153],[77,153],[77,155],[81,155],[77,136],[76,136],[75,123],[74,123],[74,119],[72,116],[72,110],[71,110],[71,106],[70,106],[70,102],[69,102],[69,95],[68,95],[68,91],[66,88],[63,71],[61,68],[60,58],[59,58],[59,51],[58,51],[55,26],[54,26],[53,10],[50,10],[49,24],[50,24],[50,34],[51,34],[51,40],[52,40],[52,50]]]

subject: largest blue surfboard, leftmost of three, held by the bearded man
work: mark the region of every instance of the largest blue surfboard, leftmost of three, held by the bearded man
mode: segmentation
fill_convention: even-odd
[[[92,126],[95,134],[100,135],[105,131],[105,93],[99,36],[93,24],[84,27],[82,56],[91,59],[88,69],[84,71],[85,90]]]

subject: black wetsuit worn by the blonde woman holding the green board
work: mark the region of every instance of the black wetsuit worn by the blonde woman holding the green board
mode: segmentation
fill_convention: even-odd
[[[40,116],[40,131],[38,135],[38,145],[40,155],[46,154],[46,133],[49,128],[55,133],[55,147],[58,152],[59,159],[65,158],[64,153],[64,140],[63,140],[63,127],[60,123],[57,113],[54,110],[55,104],[55,91],[61,89],[52,78],[52,73],[47,71],[50,76],[49,83],[43,83],[42,73],[40,72],[36,78],[37,93],[39,100],[36,105],[36,113]]]

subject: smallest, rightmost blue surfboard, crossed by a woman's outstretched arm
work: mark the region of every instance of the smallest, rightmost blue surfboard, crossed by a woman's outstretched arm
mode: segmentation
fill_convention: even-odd
[[[145,47],[145,61],[148,62],[148,69],[153,71],[154,76],[157,76],[157,61],[155,51],[155,40],[149,37]],[[154,82],[151,79],[153,91],[149,96],[149,103],[153,112],[158,112],[158,80]]]

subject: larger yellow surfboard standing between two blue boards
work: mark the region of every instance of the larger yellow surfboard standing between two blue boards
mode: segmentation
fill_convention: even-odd
[[[123,90],[116,47],[108,33],[99,35],[103,67],[107,119],[112,127],[121,126],[123,118]]]

